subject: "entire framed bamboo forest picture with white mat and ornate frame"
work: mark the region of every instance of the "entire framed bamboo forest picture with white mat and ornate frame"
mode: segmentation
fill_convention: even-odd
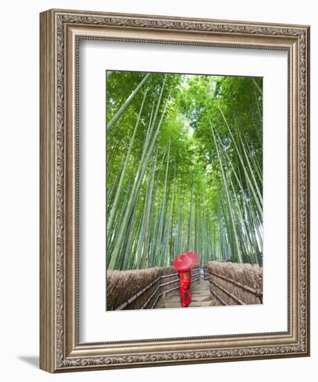
[[[40,14],[40,368],[309,355],[309,26]]]

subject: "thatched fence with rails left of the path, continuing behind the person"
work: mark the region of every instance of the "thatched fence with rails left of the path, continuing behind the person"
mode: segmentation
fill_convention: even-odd
[[[192,269],[192,282],[199,280],[199,268]],[[163,294],[179,289],[173,267],[154,267],[106,274],[107,310],[152,309]]]

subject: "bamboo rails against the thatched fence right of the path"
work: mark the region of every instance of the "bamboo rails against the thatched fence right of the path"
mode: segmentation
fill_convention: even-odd
[[[227,281],[228,283],[231,283],[232,285],[235,285],[237,288],[241,288],[242,290],[245,290],[246,292],[249,292],[249,293],[255,295],[256,297],[258,297],[258,299],[260,299],[260,304],[262,304],[262,291],[261,290],[251,288],[249,285],[244,285],[244,284],[240,283],[239,281],[235,281],[235,280],[229,279],[228,277],[223,276],[221,274],[217,274],[215,272],[212,272],[212,271],[208,270],[208,268],[206,268],[206,267],[203,270],[204,270],[204,279],[208,280],[214,287],[216,287],[217,289],[219,289],[222,292],[224,292],[225,294],[227,294],[228,297],[231,297],[234,301],[237,302],[238,305],[246,305],[246,303],[244,301],[242,301],[242,299],[239,299],[237,296],[235,296],[235,294],[231,293],[229,290],[227,290],[223,286],[219,285],[219,283],[217,283],[216,281],[212,281],[210,279],[210,274],[212,274],[212,276],[215,276],[221,280]],[[228,305],[228,304],[226,304],[224,299],[221,299],[221,297],[219,297],[217,292],[215,292],[215,288],[210,288],[210,292],[221,302],[222,305]]]

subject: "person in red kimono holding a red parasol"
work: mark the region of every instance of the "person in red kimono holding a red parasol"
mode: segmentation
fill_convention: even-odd
[[[195,252],[185,252],[176,256],[172,266],[178,271],[180,279],[180,298],[182,308],[190,305],[191,293],[191,269],[198,263],[198,256]]]

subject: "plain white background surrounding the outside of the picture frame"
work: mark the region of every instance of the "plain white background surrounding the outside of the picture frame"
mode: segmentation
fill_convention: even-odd
[[[156,367],[51,375],[39,355],[39,13],[49,8],[210,17],[311,26],[312,356],[282,360]],[[317,346],[317,68],[315,1],[64,0],[15,1],[1,7],[1,368],[3,381],[314,381]],[[316,367],[315,367],[316,366]]]

